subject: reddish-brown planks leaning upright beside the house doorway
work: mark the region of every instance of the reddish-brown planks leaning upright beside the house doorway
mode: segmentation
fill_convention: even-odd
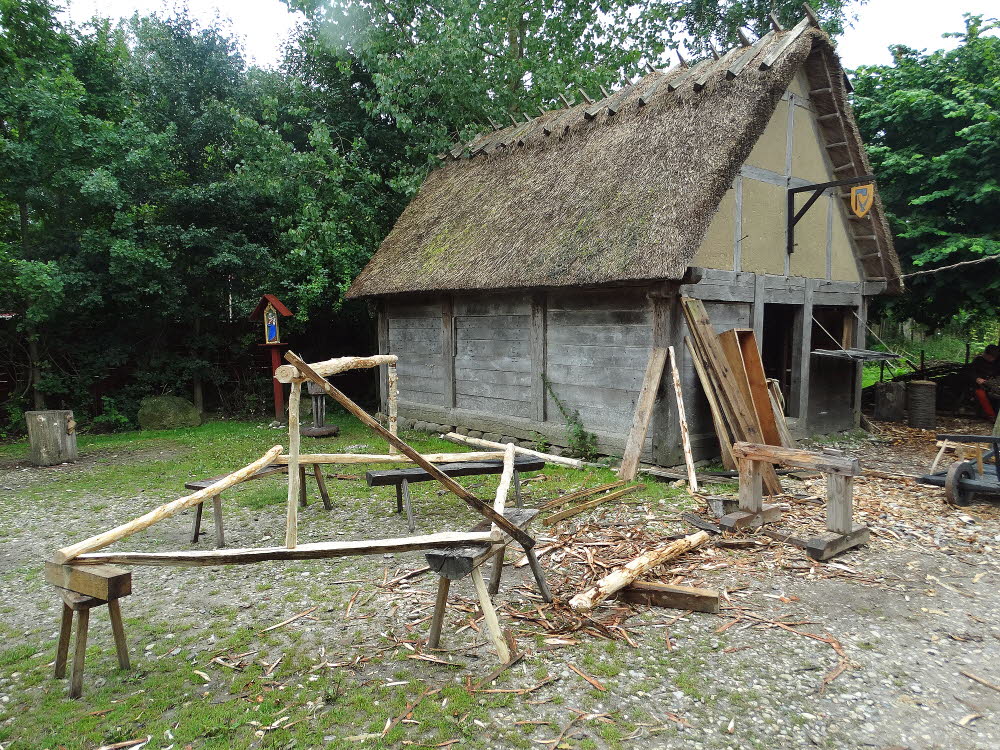
[[[681,308],[691,333],[686,343],[712,410],[726,467],[737,468],[735,442],[794,447],[787,445],[791,436],[764,376],[754,332],[736,328],[717,335],[700,300],[683,297]],[[781,492],[771,466],[764,469],[763,483],[767,494]]]

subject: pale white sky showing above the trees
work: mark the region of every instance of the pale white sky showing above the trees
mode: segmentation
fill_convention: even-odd
[[[63,0],[66,15],[76,22],[100,14],[112,18],[172,8],[172,0]],[[296,15],[281,0],[187,0],[193,15],[211,20],[230,19],[243,38],[247,57],[258,65],[273,66],[281,59],[281,46],[295,28]],[[870,0],[858,9],[858,20],[838,40],[844,67],[892,62],[888,46],[905,44],[917,49],[954,47],[941,34],[960,31],[963,13],[1000,16],[997,0]]]

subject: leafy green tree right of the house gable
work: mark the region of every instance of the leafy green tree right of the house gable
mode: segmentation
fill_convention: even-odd
[[[1000,255],[1000,28],[965,17],[954,50],[892,47],[894,64],[862,67],[854,111],[905,270]],[[1000,261],[914,276],[893,301],[939,325],[993,318]]]

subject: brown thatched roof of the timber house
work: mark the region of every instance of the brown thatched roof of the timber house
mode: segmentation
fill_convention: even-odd
[[[829,38],[804,21],[456,148],[348,296],[680,279],[803,66],[811,88],[822,88],[817,76],[829,81],[825,106],[843,115],[836,140],[846,133],[854,166],[837,178],[866,174],[843,69]],[[866,276],[898,286],[880,203],[873,214]]]

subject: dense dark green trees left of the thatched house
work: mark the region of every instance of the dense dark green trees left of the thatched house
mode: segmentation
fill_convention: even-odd
[[[185,11],[68,27],[53,8],[0,0],[2,312],[37,349],[40,400],[85,423],[114,393],[108,427],[149,393],[221,391],[220,364],[254,366],[263,292],[295,311],[286,334],[339,317],[363,338],[343,292],[402,197],[358,67],[303,39],[284,69],[249,68]]]

